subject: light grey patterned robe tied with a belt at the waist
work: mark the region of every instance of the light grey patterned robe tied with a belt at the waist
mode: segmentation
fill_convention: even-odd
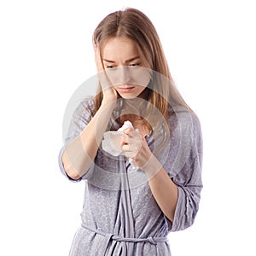
[[[66,145],[90,122],[92,97],[84,99],[73,113]],[[118,130],[119,125],[116,125]],[[70,256],[171,255],[168,232],[193,224],[201,195],[201,125],[194,113],[177,110],[170,116],[171,137],[155,154],[172,181],[178,198],[173,222],[154,200],[145,173],[134,171],[125,156],[98,149],[90,170],[75,182],[84,181],[81,227],[73,238]],[[162,132],[165,137],[165,132]],[[154,152],[160,138],[146,137]],[[67,176],[61,156],[61,172]],[[74,181],[74,180],[72,180]],[[172,196],[172,195],[170,195]]]

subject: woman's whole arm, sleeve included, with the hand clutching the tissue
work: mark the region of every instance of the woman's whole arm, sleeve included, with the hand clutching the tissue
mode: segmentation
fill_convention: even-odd
[[[201,125],[194,114],[180,115],[179,119],[181,120],[179,128],[183,129],[179,129],[177,133],[172,131],[173,139],[183,137],[183,143],[177,145],[178,148],[186,148],[186,150],[182,151],[183,154],[179,154],[177,159],[176,144],[172,143],[165,167],[156,159],[140,133],[127,129],[124,132],[129,136],[123,137],[122,142],[125,155],[148,176],[148,184],[155,201],[171,220],[172,231],[184,230],[194,223],[202,189]],[[175,162],[177,165],[173,164]],[[167,173],[168,166],[174,169],[168,170]]]

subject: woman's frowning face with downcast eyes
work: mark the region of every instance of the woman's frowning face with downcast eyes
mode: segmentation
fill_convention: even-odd
[[[142,67],[137,45],[129,38],[110,38],[102,49],[108,79],[125,99],[142,95],[150,81],[149,69]]]

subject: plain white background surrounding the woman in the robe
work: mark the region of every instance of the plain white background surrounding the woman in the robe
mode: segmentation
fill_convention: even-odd
[[[67,255],[84,186],[58,168],[63,113],[96,73],[96,25],[126,6],[153,21],[204,135],[200,212],[170,234],[172,254],[255,255],[256,9],[248,0],[1,1],[0,254]]]

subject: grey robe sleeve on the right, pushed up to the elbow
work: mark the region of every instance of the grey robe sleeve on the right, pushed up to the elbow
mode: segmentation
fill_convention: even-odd
[[[170,231],[184,230],[194,223],[202,189],[200,121],[194,113],[179,113],[175,130],[168,174],[177,185],[178,195],[174,219],[168,220]]]

